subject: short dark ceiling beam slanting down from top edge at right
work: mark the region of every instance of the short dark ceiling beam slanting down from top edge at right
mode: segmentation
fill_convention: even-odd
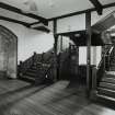
[[[97,14],[102,14],[102,12],[103,12],[103,7],[102,7],[102,4],[99,2],[99,0],[90,0],[91,1],[91,3],[94,5],[94,8],[96,9],[96,11],[97,11]]]

